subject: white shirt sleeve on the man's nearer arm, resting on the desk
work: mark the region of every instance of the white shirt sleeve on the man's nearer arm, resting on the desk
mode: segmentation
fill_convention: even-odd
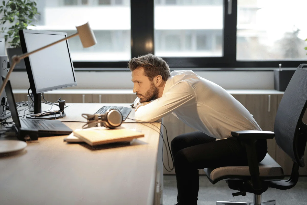
[[[194,90],[187,82],[180,82],[171,87],[162,97],[139,107],[135,112],[135,119],[154,122],[178,107],[187,106],[193,102],[196,102]]]

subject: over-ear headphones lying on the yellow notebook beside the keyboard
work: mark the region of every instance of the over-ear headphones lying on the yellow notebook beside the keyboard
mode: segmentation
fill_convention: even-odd
[[[82,117],[87,119],[87,124],[82,128],[101,127],[114,129],[122,124],[122,113],[116,109],[107,110],[104,114],[82,114]],[[87,125],[87,126],[86,126]]]

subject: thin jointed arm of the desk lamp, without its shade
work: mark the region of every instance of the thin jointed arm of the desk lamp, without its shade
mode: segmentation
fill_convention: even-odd
[[[14,55],[14,56],[12,57],[12,65],[10,66],[10,70],[9,70],[9,72],[6,74],[6,77],[5,77],[4,81],[2,82],[2,86],[1,86],[1,89],[0,89],[0,96],[1,96],[3,90],[4,90],[5,86],[6,86],[7,81],[9,80],[10,74],[12,73],[12,71],[13,71],[15,65],[16,65],[17,63],[19,63],[22,59],[28,57],[29,55],[31,55],[31,54],[33,54],[33,53],[36,53],[36,52],[38,52],[38,51],[40,51],[40,50],[43,50],[43,49],[45,49],[45,48],[48,48],[48,47],[50,47],[50,46],[52,46],[52,45],[55,45],[55,44],[57,44],[57,43],[60,43],[61,41],[65,41],[65,40],[67,40],[67,39],[69,39],[69,38],[72,38],[72,37],[75,37],[75,36],[77,36],[77,35],[79,35],[78,32],[77,32],[76,34],[72,34],[72,35],[70,35],[70,36],[68,36],[68,37],[66,37],[66,38],[63,38],[63,39],[60,39],[60,40],[55,41],[55,42],[53,42],[53,43],[50,43],[49,45],[45,45],[44,47],[41,47],[41,48],[36,49],[36,50],[33,50],[33,51],[29,52],[29,53],[24,53],[24,54],[22,54],[22,55],[20,55],[20,56]],[[1,79],[1,76],[0,76],[0,79]]]

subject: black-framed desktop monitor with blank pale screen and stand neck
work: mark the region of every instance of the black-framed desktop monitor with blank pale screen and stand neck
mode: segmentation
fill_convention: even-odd
[[[23,53],[67,37],[64,32],[19,30]],[[34,113],[41,112],[41,93],[77,85],[68,41],[62,41],[25,58],[34,94]]]

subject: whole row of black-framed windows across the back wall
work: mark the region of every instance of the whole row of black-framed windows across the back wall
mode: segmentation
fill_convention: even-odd
[[[176,69],[295,68],[307,60],[306,0],[40,0],[37,7],[37,26],[28,29],[69,35],[90,23],[97,45],[68,40],[76,68],[126,68],[150,52]]]

